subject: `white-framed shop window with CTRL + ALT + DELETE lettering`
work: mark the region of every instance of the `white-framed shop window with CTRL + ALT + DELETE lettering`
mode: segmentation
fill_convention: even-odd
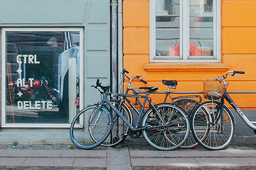
[[[2,126],[69,126],[81,99],[81,44],[82,29],[2,29]]]

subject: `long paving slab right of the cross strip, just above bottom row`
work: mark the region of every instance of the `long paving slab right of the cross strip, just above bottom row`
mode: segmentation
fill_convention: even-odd
[[[193,158],[131,158],[131,165],[137,166],[181,166],[196,167],[199,164]]]

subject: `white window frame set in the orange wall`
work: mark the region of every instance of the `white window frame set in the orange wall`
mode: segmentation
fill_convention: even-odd
[[[155,0],[149,3],[150,62],[221,62],[221,1],[213,1],[213,56],[189,56],[189,1],[180,1],[180,56],[155,56]]]

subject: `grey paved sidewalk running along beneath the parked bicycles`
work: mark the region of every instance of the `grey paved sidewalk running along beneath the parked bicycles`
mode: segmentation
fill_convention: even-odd
[[[140,141],[143,141],[140,139]],[[131,140],[118,147],[81,150],[66,144],[0,146],[0,169],[256,169],[256,147],[197,147],[159,151]]]

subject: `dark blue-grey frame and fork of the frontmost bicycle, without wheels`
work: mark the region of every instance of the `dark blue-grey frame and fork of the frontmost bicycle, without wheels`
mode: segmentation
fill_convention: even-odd
[[[108,99],[108,96],[109,95],[113,95],[113,96],[123,96],[123,97],[139,97],[139,98],[143,98],[144,101],[143,101],[143,104],[142,104],[142,109],[141,109],[141,112],[139,112],[139,116],[137,118],[137,122],[135,124],[135,126],[133,126],[132,124],[130,124],[130,122],[122,115],[121,112],[119,112],[119,110],[109,101]],[[98,107],[96,109],[96,113],[100,110],[101,106],[104,105],[105,103],[107,103],[110,108],[113,109],[113,111],[115,113],[118,114],[119,117],[122,118],[122,120],[125,122],[125,124],[127,124],[127,126],[129,126],[129,128],[132,130],[132,131],[140,131],[140,130],[144,130],[144,129],[155,129],[155,128],[160,128],[160,127],[164,127],[167,125],[167,122],[163,119],[163,117],[160,115],[160,113],[158,112],[158,110],[154,107],[154,105],[151,103],[150,99],[148,99],[148,95],[149,93],[147,92],[146,95],[129,95],[129,94],[114,94],[112,92],[109,92],[109,91],[106,91],[105,94],[104,94],[104,97],[101,101],[100,104],[98,104]],[[154,109],[154,111],[158,114],[158,116],[160,117],[160,120],[163,121],[163,125],[158,125],[158,126],[151,126],[151,127],[146,127],[146,126],[143,126],[141,127],[139,124],[141,122],[141,119],[144,115],[144,112],[143,112],[143,108],[145,107],[146,105],[146,102],[148,101],[149,105],[150,105],[150,108]],[[96,116],[96,115],[95,115]],[[95,118],[95,116],[92,118],[92,120]],[[97,121],[96,121],[97,122]]]

